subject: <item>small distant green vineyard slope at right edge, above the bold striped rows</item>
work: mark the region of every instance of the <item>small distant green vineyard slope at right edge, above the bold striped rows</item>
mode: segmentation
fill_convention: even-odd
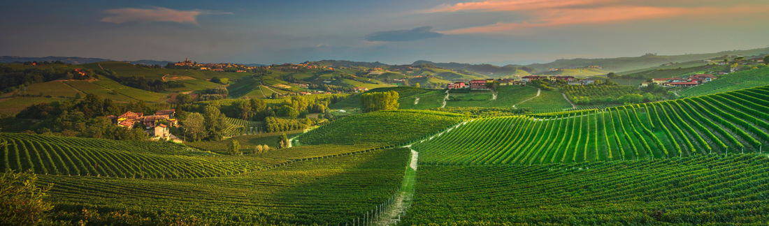
[[[766,85],[769,85],[769,67],[761,67],[719,76],[716,80],[681,90],[678,95],[697,97]]]

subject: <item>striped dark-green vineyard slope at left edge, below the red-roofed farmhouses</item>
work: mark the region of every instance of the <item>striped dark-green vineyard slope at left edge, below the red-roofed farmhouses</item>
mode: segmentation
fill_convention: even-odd
[[[106,178],[202,178],[270,169],[307,159],[369,152],[374,146],[300,146],[246,156],[194,152],[167,142],[0,133],[0,169]],[[248,150],[244,150],[248,153]]]

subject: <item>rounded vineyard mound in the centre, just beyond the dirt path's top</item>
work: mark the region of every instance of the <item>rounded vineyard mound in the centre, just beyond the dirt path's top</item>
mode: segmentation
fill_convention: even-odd
[[[301,144],[389,146],[413,142],[467,119],[454,113],[387,110],[346,116],[298,136]]]

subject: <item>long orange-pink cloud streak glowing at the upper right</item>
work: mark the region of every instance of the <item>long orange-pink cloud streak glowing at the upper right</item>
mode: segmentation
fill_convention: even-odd
[[[635,2],[638,3],[638,1]],[[511,11],[531,17],[521,22],[498,22],[494,25],[438,31],[442,34],[468,34],[514,31],[522,28],[605,24],[621,21],[671,18],[682,15],[761,13],[769,10],[769,5],[739,5],[731,8],[683,8],[641,6],[633,3],[634,1],[628,0],[488,0],[484,2],[441,5],[422,12]]]

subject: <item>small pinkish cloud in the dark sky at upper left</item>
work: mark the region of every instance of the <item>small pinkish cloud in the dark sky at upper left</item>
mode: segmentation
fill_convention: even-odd
[[[113,8],[106,12],[114,14],[102,18],[102,22],[122,24],[126,22],[139,21],[168,21],[177,23],[198,24],[198,15],[206,14],[232,14],[231,12],[219,12],[208,10],[181,11],[171,8],[153,7],[153,8]]]

